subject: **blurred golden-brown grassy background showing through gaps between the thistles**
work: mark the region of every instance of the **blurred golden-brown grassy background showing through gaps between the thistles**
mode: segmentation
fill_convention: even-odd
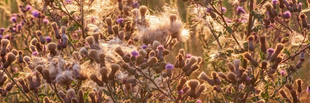
[[[29,0],[29,1],[33,3],[36,2],[36,0]],[[307,4],[305,3],[306,0],[299,0],[299,2],[303,2],[304,3],[303,8],[306,8],[307,6]],[[190,15],[187,9],[188,2],[183,2],[181,0],[141,0],[139,3],[140,5],[148,6],[149,9],[152,9],[152,10],[161,10],[161,7],[165,3],[176,3],[178,5],[178,8],[179,8],[178,11],[179,11],[182,21],[188,25],[191,25]],[[11,14],[21,12],[19,11],[19,8],[18,8],[19,5],[25,5],[25,4],[21,2],[20,0],[0,0],[0,28],[2,27],[6,28],[7,26],[11,24],[11,21],[10,21]],[[235,10],[235,8],[232,7],[232,5],[228,3],[228,0],[224,0],[223,6],[228,9],[227,10],[228,12],[225,14],[225,16],[229,18],[231,16],[231,12],[229,11]],[[309,13],[306,13],[306,14],[309,16]],[[171,51],[171,55],[169,55],[169,57],[166,58],[167,62],[170,62],[172,64],[174,63],[175,56],[177,55],[180,48],[185,49],[186,54],[201,56],[202,58],[204,58],[203,53],[206,51],[206,49],[202,46],[201,41],[199,41],[198,39],[199,35],[195,31],[195,26],[191,27],[191,30],[193,32],[193,35],[191,36],[190,40],[186,43],[179,42],[175,46],[175,49],[174,49],[175,51]],[[211,39],[207,39],[207,40],[208,42],[212,41]],[[289,45],[287,46],[290,47]],[[310,84],[310,80],[309,80],[310,61],[309,60],[310,60],[309,55],[307,55],[305,58],[305,62],[303,63],[303,67],[298,70],[299,75],[294,75],[295,78],[301,78],[303,80],[303,83],[304,83],[303,90],[305,90],[306,87]],[[223,66],[220,68],[226,68],[226,67]],[[197,78],[197,76],[199,75],[201,71],[204,71],[207,74],[209,74],[210,71],[214,71],[214,69],[216,68],[213,68],[209,66],[207,62],[204,62],[200,70],[194,72],[194,75],[191,78]],[[304,93],[303,95],[307,95],[307,93],[305,92],[303,93]],[[307,97],[307,96],[303,96],[303,97]],[[308,98],[303,98],[302,100],[303,102],[308,102],[308,103],[310,102],[310,99]]]

